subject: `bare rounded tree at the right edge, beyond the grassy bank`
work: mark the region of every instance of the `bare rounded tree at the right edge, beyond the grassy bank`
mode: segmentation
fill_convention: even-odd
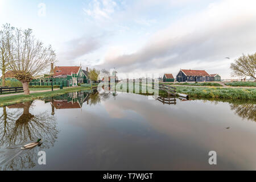
[[[230,68],[232,76],[250,76],[256,79],[256,53],[253,55],[242,55],[232,63]]]

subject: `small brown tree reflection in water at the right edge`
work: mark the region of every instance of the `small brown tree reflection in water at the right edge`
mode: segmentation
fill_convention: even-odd
[[[235,110],[243,119],[248,119],[256,122],[256,105],[255,104],[230,104],[230,108]]]

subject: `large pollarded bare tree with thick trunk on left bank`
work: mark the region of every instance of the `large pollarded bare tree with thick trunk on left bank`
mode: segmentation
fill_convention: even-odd
[[[9,64],[15,78],[22,82],[24,94],[30,94],[29,82],[37,75],[46,73],[51,63],[56,63],[56,54],[51,46],[35,39],[32,30],[16,28],[13,35],[14,51],[9,50]]]

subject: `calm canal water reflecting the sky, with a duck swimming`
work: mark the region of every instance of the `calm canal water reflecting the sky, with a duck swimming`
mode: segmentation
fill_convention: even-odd
[[[0,169],[255,170],[255,122],[253,102],[69,93],[0,108]]]

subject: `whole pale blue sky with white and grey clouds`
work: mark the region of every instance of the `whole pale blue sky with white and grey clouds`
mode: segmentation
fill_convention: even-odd
[[[0,24],[32,28],[59,65],[160,76],[205,69],[230,78],[230,63],[256,52],[255,7],[255,0],[0,0]]]

